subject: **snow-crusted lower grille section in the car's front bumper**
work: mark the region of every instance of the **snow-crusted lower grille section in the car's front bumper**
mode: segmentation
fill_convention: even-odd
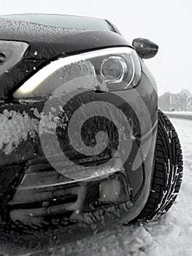
[[[83,173],[85,178],[76,181],[58,173],[47,162],[30,165],[14,197],[9,202],[10,218],[13,222],[21,222],[30,226],[46,225],[50,222],[64,222],[69,225],[74,219],[74,214],[80,216],[86,212],[97,211],[130,200],[131,188],[123,168],[115,170],[109,165],[107,176],[103,170],[99,172],[99,165],[107,160],[107,157],[99,161],[95,159],[95,168],[97,173],[100,173],[96,180],[88,178],[88,176],[85,177],[85,173]],[[119,161],[119,159],[116,160]],[[68,164],[66,162],[57,163],[58,166],[71,170]],[[93,162],[91,165],[93,166]],[[104,182],[113,182],[118,185],[117,187],[121,187],[119,189],[120,197],[117,196],[119,199],[114,197],[114,201],[111,201],[111,199],[99,198],[101,197],[99,195],[101,184],[105,185]],[[104,185],[102,186],[104,187]]]

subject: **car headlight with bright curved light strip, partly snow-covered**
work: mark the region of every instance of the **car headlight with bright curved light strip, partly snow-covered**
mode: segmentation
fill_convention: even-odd
[[[85,88],[85,84],[86,89],[105,84],[109,91],[123,90],[137,86],[141,74],[135,50],[128,47],[94,50],[52,61],[23,83],[13,96],[48,96],[70,80],[76,80],[75,89]],[[86,77],[89,78],[78,82],[78,78]]]

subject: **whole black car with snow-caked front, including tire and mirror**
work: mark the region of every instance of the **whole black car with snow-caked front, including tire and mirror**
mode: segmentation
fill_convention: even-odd
[[[0,16],[0,249],[20,255],[160,217],[183,175],[142,59],[108,20]]]

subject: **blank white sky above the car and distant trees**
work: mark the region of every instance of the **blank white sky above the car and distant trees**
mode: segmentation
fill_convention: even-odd
[[[129,42],[146,37],[159,45],[147,66],[158,94],[190,89],[192,93],[191,0],[0,0],[0,14],[41,12],[107,18]]]

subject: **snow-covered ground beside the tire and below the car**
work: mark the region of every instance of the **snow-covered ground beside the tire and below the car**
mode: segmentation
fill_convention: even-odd
[[[185,172],[180,194],[170,211],[153,222],[117,227],[45,255],[192,255],[192,121],[172,118],[172,122],[183,147]]]

